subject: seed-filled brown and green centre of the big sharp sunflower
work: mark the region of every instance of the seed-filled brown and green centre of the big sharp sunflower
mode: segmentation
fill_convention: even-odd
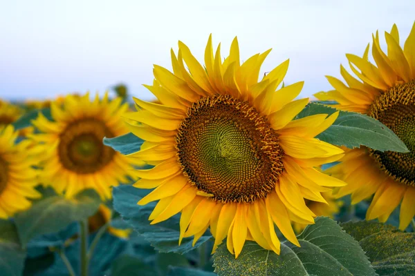
[[[284,168],[266,117],[228,95],[193,103],[178,128],[176,149],[184,175],[223,203],[266,197]]]

